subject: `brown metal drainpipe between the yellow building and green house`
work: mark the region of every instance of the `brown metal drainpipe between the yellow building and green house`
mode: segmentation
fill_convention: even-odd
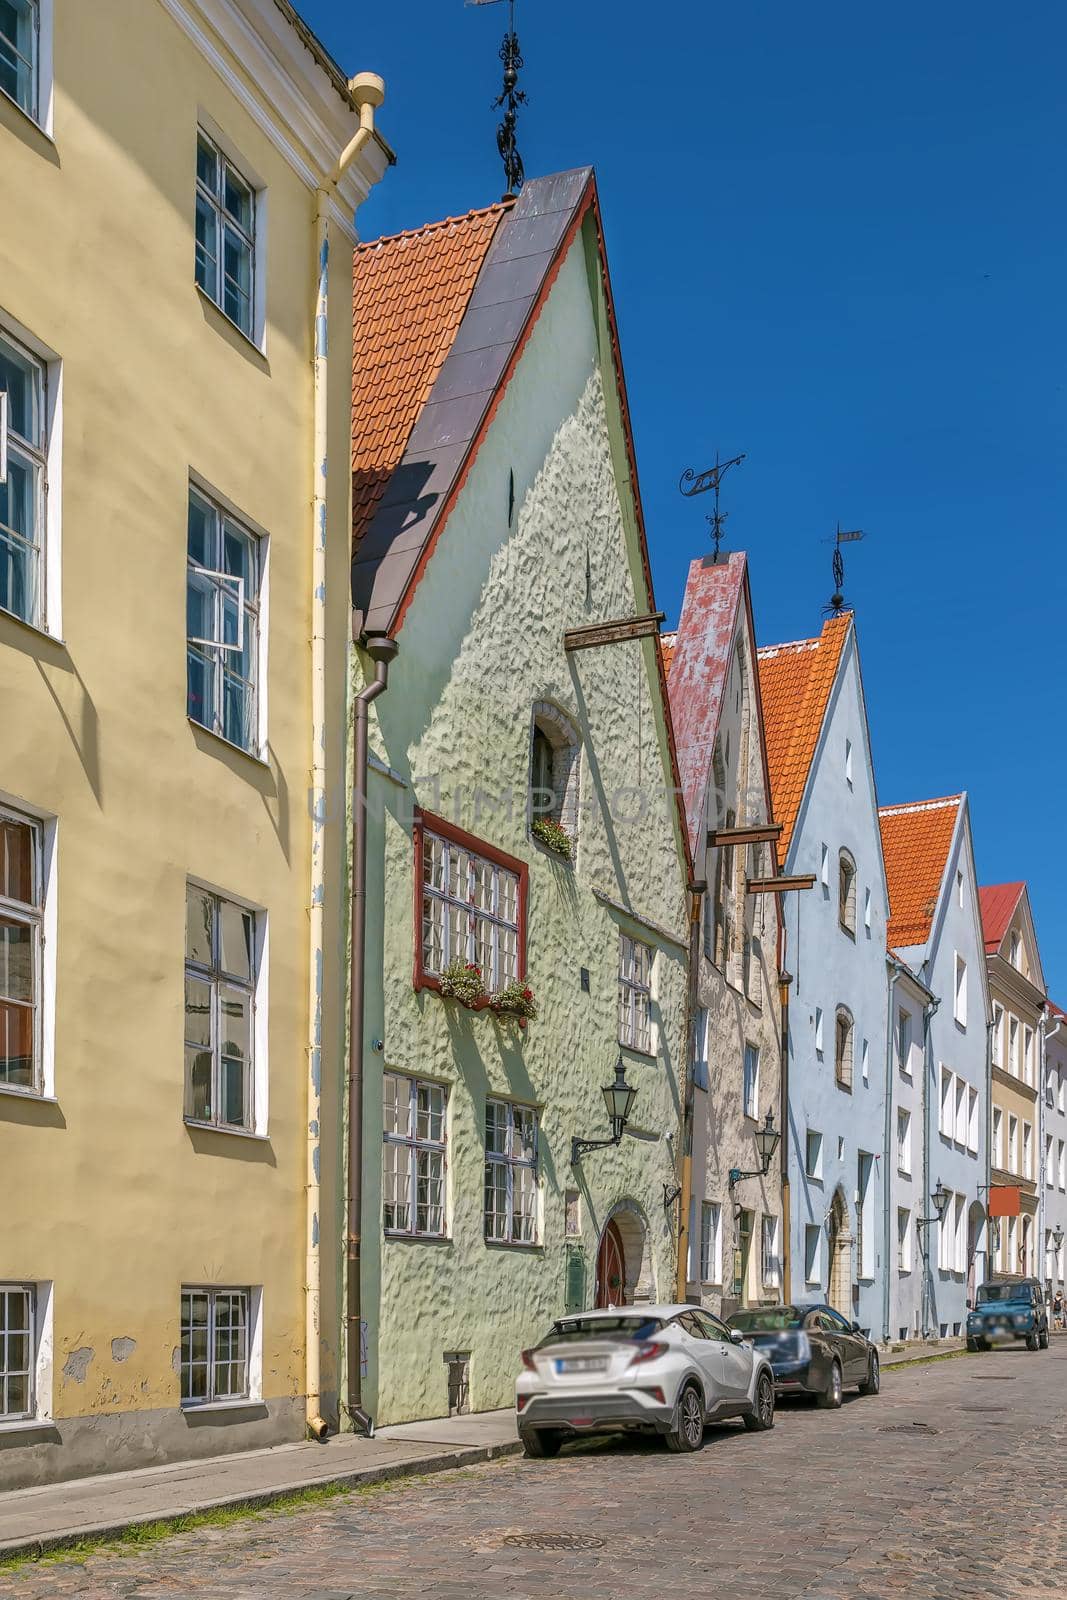
[[[349,984],[349,1186],[346,1238],[347,1262],[347,1405],[355,1427],[371,1432],[363,1410],[360,1234],[363,1227],[363,1013],[366,1010],[366,754],[371,701],[389,686],[389,662],[397,656],[395,638],[371,638],[366,653],[374,678],[354,702],[352,738],[352,974]]]

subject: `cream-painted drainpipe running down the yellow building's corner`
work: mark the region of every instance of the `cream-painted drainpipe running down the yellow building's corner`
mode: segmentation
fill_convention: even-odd
[[[322,1416],[322,1258],[320,1258],[320,1160],[322,1160],[322,1016],[326,966],[326,467],[330,392],[330,222],[331,194],[344,170],[374,133],[374,107],[386,85],[374,72],[349,83],[360,107],[360,128],[338,157],[333,171],[315,192],[315,317],[312,325],[312,763],[310,763],[310,899],[309,899],[309,1021],[307,1021],[307,1168],[306,1168],[306,1266],[304,1266],[304,1394],[307,1432],[326,1438]],[[350,413],[349,413],[350,414]],[[350,429],[346,429],[346,434]]]

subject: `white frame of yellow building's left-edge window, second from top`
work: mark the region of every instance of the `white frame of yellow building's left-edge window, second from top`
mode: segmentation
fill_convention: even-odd
[[[14,611],[0,611],[22,627],[32,627],[50,638],[62,638],[62,362],[56,350],[43,344],[14,317],[0,310],[0,339],[5,339],[18,355],[40,370],[42,442],[19,453],[34,461],[38,474],[35,509],[35,549],[38,554],[38,605],[30,618]],[[0,453],[8,459],[0,462],[0,482],[10,466],[10,408],[0,416]]]

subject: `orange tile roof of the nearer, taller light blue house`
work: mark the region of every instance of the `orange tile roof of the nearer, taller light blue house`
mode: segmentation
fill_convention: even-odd
[[[830,690],[853,614],[832,616],[819,638],[768,645],[757,651],[766,765],[771,776],[774,821],[782,824],[779,861],[785,861],[819,742]]]

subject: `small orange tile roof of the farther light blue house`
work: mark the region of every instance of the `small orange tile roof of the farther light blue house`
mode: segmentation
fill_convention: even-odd
[[[926,944],[963,795],[878,810],[889,885],[886,941]]]

